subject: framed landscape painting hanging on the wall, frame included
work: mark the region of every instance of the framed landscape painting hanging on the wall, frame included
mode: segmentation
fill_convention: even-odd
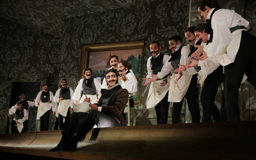
[[[141,82],[143,70],[144,41],[131,41],[119,43],[107,43],[82,46],[79,78],[83,78],[83,70],[91,68],[92,77],[98,79],[101,84],[105,72],[109,70],[109,56],[117,55],[118,60],[126,60],[132,64],[132,71],[138,80],[138,92],[134,95],[135,105],[140,105]]]

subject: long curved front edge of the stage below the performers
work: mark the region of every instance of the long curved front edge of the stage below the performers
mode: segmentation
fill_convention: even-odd
[[[60,131],[0,135],[0,152],[72,160],[256,160],[256,121],[94,128],[75,152]],[[13,155],[15,157],[15,155]]]

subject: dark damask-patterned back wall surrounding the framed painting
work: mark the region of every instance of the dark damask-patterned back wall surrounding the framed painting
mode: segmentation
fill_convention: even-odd
[[[145,40],[143,77],[146,62],[151,56],[149,43],[158,40],[162,53],[168,54],[168,38],[174,34],[184,37],[188,26],[189,0],[157,0],[100,14],[66,19],[62,46],[60,78],[67,78],[70,85],[78,82],[81,46]],[[144,109],[149,86],[142,88],[140,109]]]

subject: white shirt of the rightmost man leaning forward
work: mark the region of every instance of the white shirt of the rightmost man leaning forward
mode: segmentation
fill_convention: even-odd
[[[207,19],[210,19],[211,13],[214,9],[215,8],[211,9]],[[234,10],[219,9],[212,16],[211,25],[213,29],[213,42],[209,43],[203,48],[204,52],[206,52],[208,55],[208,60],[206,59],[203,62],[199,61],[198,63],[198,66],[201,66],[201,68],[207,67],[207,72],[204,72],[204,74],[212,73],[220,65],[215,56],[223,52],[223,49],[225,49],[227,45],[230,44],[232,37],[230,28],[235,26],[248,27],[249,22],[242,16],[238,15]],[[233,49],[233,53],[231,54],[236,55],[239,46],[240,44],[233,46],[236,48],[236,51],[234,52]]]

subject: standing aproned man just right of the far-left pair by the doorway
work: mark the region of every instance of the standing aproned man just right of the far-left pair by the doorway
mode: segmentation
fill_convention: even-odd
[[[36,97],[35,104],[38,107],[37,120],[40,120],[40,131],[48,130],[49,115],[53,104],[53,93],[49,91],[47,84],[43,85],[43,90]]]

